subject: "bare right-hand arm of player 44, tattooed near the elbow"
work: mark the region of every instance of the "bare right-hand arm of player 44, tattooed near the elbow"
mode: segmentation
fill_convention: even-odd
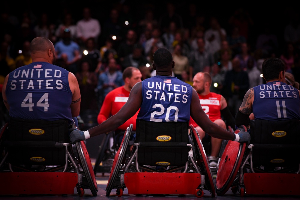
[[[68,79],[69,79],[70,90],[72,91],[72,94],[73,94],[72,103],[70,105],[72,117],[77,117],[79,115],[80,102],[81,102],[79,85],[78,85],[78,81],[73,73],[69,72]]]

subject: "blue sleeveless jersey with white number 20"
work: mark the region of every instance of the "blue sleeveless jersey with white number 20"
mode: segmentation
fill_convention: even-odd
[[[171,76],[153,76],[142,81],[142,105],[138,119],[156,122],[190,120],[191,85]]]

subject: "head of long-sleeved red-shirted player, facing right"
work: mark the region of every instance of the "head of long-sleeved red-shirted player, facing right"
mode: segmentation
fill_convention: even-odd
[[[137,83],[142,81],[142,73],[136,67],[126,67],[123,71],[123,81],[129,90]]]

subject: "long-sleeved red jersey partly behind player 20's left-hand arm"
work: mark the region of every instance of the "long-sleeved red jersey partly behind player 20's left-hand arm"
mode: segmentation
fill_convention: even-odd
[[[124,89],[124,86],[118,87],[112,91],[110,91],[104,98],[103,104],[101,106],[100,112],[98,114],[98,124],[101,124],[105,120],[107,120],[110,116],[115,115],[119,110],[124,106],[126,101],[129,97],[128,91]],[[119,126],[117,130],[126,130],[130,124],[133,125],[132,131],[136,131],[136,120],[137,114],[139,113],[140,109],[137,111],[134,116],[128,119],[124,124]]]

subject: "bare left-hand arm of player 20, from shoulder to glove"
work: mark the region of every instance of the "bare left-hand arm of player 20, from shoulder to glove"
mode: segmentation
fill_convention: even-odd
[[[199,102],[199,99],[198,99]],[[88,130],[91,137],[115,130],[131,118],[140,108],[142,104],[142,82],[138,82],[131,89],[129,97],[125,105],[102,124]]]

